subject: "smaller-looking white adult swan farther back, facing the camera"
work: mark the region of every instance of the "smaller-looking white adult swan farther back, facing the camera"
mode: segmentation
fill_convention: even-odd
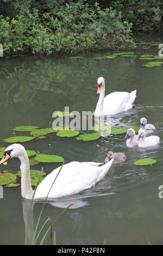
[[[131,93],[110,93],[105,97],[105,80],[103,77],[98,78],[97,86],[97,94],[100,95],[95,110],[95,116],[117,114],[127,111],[134,106],[133,102],[136,97],[136,90]]]

